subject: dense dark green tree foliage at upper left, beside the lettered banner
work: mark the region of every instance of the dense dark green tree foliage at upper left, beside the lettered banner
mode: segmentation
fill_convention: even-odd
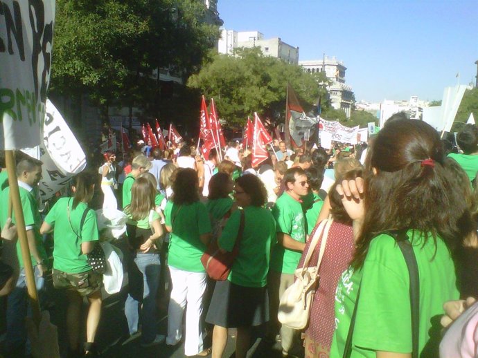
[[[154,68],[185,78],[219,37],[191,0],[57,0],[51,91],[97,104],[151,102]]]

